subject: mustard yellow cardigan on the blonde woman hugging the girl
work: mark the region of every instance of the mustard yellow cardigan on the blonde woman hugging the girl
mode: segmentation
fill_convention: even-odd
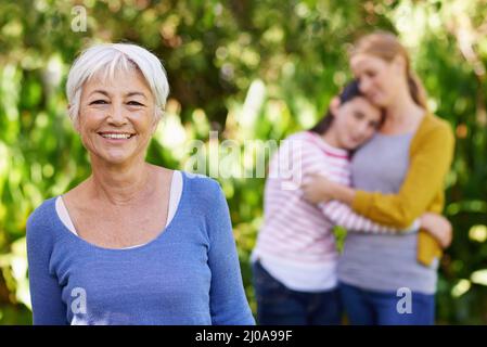
[[[411,140],[409,169],[397,194],[356,191],[353,208],[376,222],[407,228],[425,211],[440,214],[445,205],[444,183],[454,151],[454,136],[446,120],[426,114]],[[418,261],[430,266],[441,256],[432,235],[420,230]]]

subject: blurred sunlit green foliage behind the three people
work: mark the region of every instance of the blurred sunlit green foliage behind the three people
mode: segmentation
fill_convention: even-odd
[[[255,158],[268,158],[269,149],[249,140],[281,140],[313,125],[350,77],[349,43],[379,28],[397,33],[410,48],[432,111],[457,133],[445,210],[456,234],[440,267],[438,323],[487,323],[485,0],[91,0],[84,4],[88,30],[81,33],[72,29],[77,3],[0,4],[0,323],[30,323],[28,215],[90,174],[63,89],[82,48],[131,41],[164,61],[171,94],[150,162],[187,169],[193,140],[212,157],[209,130],[239,149],[228,162],[239,175],[218,179],[255,309],[248,257],[265,181],[243,174],[255,177]],[[215,165],[200,171],[214,176]],[[342,240],[344,231],[336,234]]]

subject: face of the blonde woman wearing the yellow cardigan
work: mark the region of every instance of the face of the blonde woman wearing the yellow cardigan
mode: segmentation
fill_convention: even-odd
[[[392,104],[403,76],[403,62],[400,57],[387,62],[371,54],[356,54],[350,59],[355,78],[359,80],[360,91],[375,105],[387,107]]]

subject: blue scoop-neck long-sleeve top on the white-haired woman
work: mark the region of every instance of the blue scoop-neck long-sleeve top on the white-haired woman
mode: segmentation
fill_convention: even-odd
[[[166,229],[134,248],[72,233],[55,197],[27,221],[34,324],[255,324],[220,185],[182,172]]]

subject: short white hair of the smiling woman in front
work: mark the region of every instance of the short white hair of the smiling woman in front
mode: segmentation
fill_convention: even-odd
[[[66,82],[69,117],[79,114],[82,86],[92,77],[113,79],[116,72],[139,68],[155,99],[155,117],[161,119],[169,94],[166,70],[153,53],[130,43],[100,43],[85,50],[73,63]]]

